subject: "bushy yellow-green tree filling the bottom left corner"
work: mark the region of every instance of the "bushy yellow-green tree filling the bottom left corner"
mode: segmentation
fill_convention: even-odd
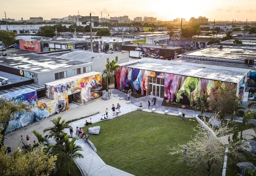
[[[48,176],[55,167],[57,156],[46,155],[43,146],[20,153],[18,149],[7,156],[6,147],[0,150],[1,176]]]

